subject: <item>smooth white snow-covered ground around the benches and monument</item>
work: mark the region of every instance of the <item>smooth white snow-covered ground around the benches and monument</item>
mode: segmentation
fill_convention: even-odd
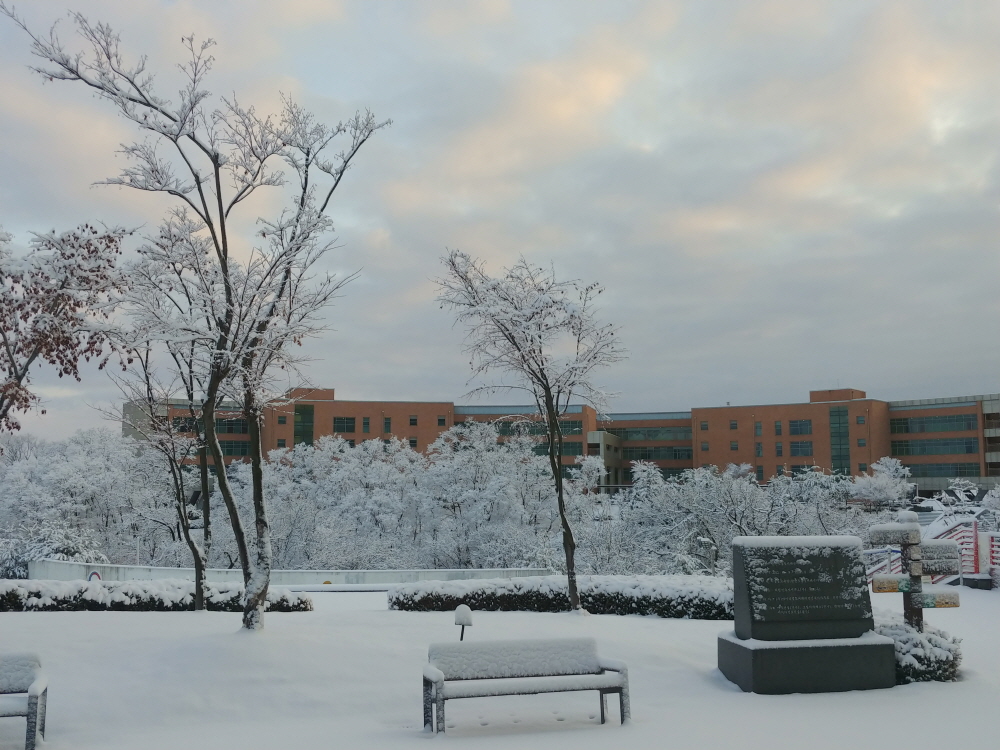
[[[44,747],[128,748],[889,748],[989,747],[1000,695],[1000,592],[963,589],[927,620],[964,638],[963,679],[891,690],[760,696],[716,669],[725,622],[474,613],[466,638],[592,636],[629,666],[632,722],[600,726],[597,695],[448,704],[444,737],[421,732],[421,667],[454,615],[388,611],[385,594],[314,594],[316,611],[273,614],[261,633],[228,613],[7,613],[6,651],[37,651],[49,675]],[[876,607],[902,608],[896,594]],[[907,727],[916,720],[919,728]],[[0,749],[24,719],[0,720]]]

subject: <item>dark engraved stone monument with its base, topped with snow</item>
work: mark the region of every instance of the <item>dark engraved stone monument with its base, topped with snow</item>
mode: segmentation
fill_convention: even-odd
[[[772,695],[895,685],[895,645],[873,632],[861,549],[855,536],[736,537],[721,672]]]

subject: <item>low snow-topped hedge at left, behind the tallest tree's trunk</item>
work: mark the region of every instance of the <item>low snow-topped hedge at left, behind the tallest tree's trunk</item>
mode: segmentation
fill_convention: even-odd
[[[243,585],[205,586],[205,608],[242,612]],[[271,588],[269,612],[311,612],[312,600],[302,593]],[[0,612],[185,612],[194,609],[194,582],[162,581],[0,581]]]

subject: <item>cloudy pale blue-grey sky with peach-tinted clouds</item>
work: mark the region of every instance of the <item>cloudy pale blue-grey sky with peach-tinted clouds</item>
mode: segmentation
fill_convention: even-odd
[[[474,401],[441,257],[520,255],[606,289],[627,360],[613,412],[1000,391],[1000,5],[503,0],[21,2],[79,47],[111,23],[169,96],[181,37],[216,41],[208,88],[324,121],[371,109],[330,215],[324,270],[360,271],[305,345],[345,400]],[[0,18],[0,225],[153,231],[160,195],[95,186],[137,133],[79,84],[46,82]],[[280,206],[246,204],[241,226]],[[258,213],[254,213],[257,211]],[[108,426],[104,373],[33,375],[26,432]],[[114,427],[114,425],[110,425]]]

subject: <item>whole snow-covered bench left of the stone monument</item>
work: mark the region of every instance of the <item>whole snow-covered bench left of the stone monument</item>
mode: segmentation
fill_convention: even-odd
[[[629,718],[628,668],[599,657],[592,638],[432,643],[424,667],[424,731],[444,732],[445,701],[574,690],[600,693],[602,724],[609,693],[618,694],[622,723]]]

